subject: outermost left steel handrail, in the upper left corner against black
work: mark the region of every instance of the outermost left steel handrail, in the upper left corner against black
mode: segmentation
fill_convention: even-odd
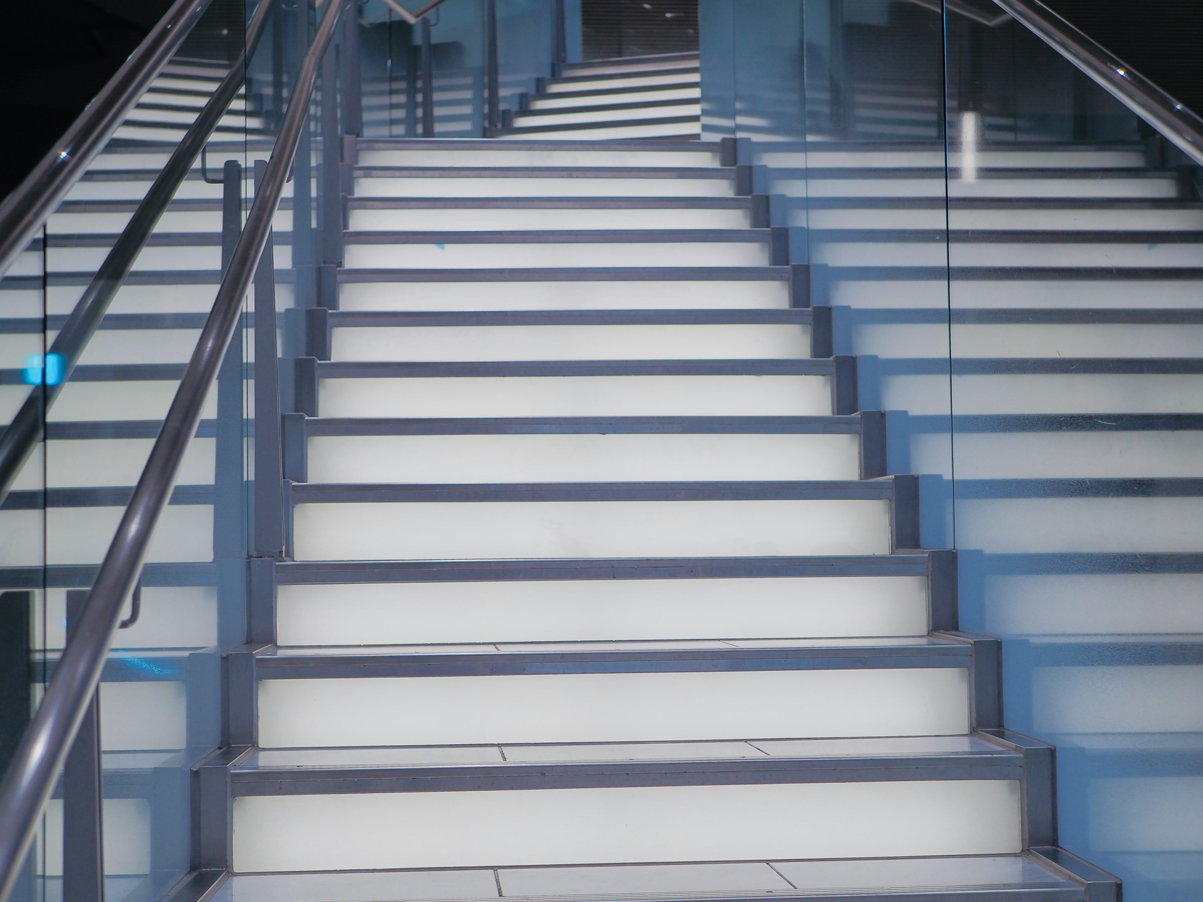
[[[176,0],[108,84],[0,206],[0,277],[79,180],[134,105],[200,20],[211,0]]]

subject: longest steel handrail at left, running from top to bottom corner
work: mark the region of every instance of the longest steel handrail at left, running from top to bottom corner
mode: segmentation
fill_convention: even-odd
[[[275,149],[260,183],[242,237],[226,267],[213,309],[179,388],[138,477],[105,560],[100,565],[76,627],[42,704],[12,758],[0,784],[0,900],[12,891],[34,837],[37,819],[79,729],[88,702],[96,692],[108,647],[134,589],[150,536],[171,497],[184,452],[196,433],[206,397],[217,378],[226,348],[238,326],[242,302],[250,287],[259,257],[267,243],[272,218],[296,154],[308,114],[318,66],[338,24],[343,4],[328,2],[301,69]]]

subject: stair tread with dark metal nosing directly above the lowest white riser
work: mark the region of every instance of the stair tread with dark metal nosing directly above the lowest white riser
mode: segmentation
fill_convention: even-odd
[[[565,787],[1021,779],[1018,749],[983,735],[259,749],[231,767],[235,796]]]

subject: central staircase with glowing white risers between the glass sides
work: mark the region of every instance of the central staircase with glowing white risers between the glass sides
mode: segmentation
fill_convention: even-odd
[[[734,143],[540,113],[632,67],[360,142],[215,898],[1106,898]]]

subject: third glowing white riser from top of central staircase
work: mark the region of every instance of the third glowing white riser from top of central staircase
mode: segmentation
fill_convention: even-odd
[[[504,231],[549,229],[747,229],[747,209],[351,209],[351,231]]]

